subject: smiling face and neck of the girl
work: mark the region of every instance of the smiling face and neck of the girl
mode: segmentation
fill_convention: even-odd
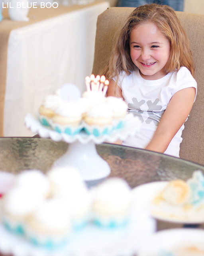
[[[170,42],[152,23],[138,25],[130,33],[130,57],[146,80],[156,80],[167,75],[165,65],[169,60]]]

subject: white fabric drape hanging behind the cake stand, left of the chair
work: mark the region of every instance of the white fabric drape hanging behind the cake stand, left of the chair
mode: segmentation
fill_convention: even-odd
[[[33,136],[27,113],[65,83],[85,91],[91,75],[98,15],[109,2],[12,30],[8,42],[4,136]]]

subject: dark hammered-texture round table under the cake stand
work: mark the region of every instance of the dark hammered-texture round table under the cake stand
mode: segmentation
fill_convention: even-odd
[[[40,169],[46,172],[68,146],[47,138],[0,138],[0,170],[18,173]],[[204,173],[202,165],[147,150],[108,143],[96,145],[96,149],[110,165],[109,177],[122,177],[131,187],[152,181],[186,180],[198,169]],[[182,224],[157,221],[158,230],[179,227]],[[204,225],[196,227],[204,228]]]

